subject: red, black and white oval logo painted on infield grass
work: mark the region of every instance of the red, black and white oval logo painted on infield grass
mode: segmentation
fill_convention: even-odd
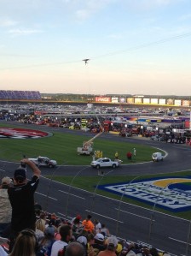
[[[0,128],[0,139],[39,139],[50,134],[25,128]]]

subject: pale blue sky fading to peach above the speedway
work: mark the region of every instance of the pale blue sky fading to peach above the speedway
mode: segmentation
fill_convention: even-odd
[[[0,39],[1,90],[191,95],[190,0],[0,0]]]

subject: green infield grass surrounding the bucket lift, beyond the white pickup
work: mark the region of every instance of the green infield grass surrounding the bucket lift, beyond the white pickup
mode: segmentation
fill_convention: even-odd
[[[16,128],[16,126],[11,127]],[[30,125],[28,128],[32,129]],[[34,129],[40,130],[38,127]],[[47,131],[52,132],[51,128],[47,128]],[[84,141],[95,136],[95,134],[88,135],[85,136],[81,131],[78,131],[78,134],[54,132],[52,136],[40,139],[0,139],[0,158],[17,162],[23,155],[26,155],[26,158],[43,156],[55,159],[58,164],[89,165],[92,156],[82,156],[77,153],[78,146],[82,146]],[[136,157],[132,157],[130,161],[126,158],[126,152],[133,152],[134,147],[136,147]],[[152,153],[156,151],[153,147],[146,146],[144,141],[142,145],[137,145],[127,140],[114,141],[107,138],[107,135],[94,140],[93,148],[94,151],[102,152],[103,157],[112,159],[114,159],[115,152],[119,152],[119,159],[123,161],[123,164],[150,161]]]

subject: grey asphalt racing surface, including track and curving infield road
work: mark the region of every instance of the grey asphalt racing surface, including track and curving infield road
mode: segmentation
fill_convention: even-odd
[[[14,123],[15,124],[15,123]],[[23,125],[22,125],[23,126]],[[32,126],[26,126],[32,128]],[[34,127],[33,127],[34,128]],[[37,128],[37,126],[35,126]],[[78,133],[63,128],[43,128],[54,132]],[[141,138],[121,138],[111,134],[103,135],[108,140],[128,140],[137,144],[147,144],[162,149],[166,153],[163,162],[122,165],[113,171],[104,170],[105,176],[137,176],[146,174],[165,174],[190,170],[191,147]],[[0,162],[1,176],[13,176],[18,164]],[[109,173],[110,172],[110,173]],[[28,170],[28,176],[32,175]],[[84,218],[88,213],[93,218],[106,223],[113,235],[118,235],[128,241],[140,241],[171,253],[171,255],[191,255],[191,221],[179,217],[171,217],[159,211],[148,210],[136,205],[124,203],[122,200],[110,199],[96,193],[73,188],[54,182],[44,176],[97,176],[98,171],[90,166],[61,165],[55,169],[42,169],[42,178],[36,193],[36,200],[43,210],[55,212],[58,216],[70,219],[78,213]],[[102,179],[102,176],[101,176]],[[100,181],[101,181],[100,179]],[[106,182],[107,183],[107,182]]]

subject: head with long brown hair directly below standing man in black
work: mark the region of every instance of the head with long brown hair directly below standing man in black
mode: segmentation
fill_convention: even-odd
[[[32,229],[23,229],[17,236],[12,252],[9,256],[35,256],[37,241]]]

